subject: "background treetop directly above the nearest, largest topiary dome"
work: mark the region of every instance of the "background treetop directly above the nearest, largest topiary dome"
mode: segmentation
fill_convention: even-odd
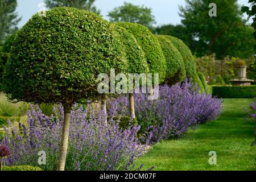
[[[48,9],[52,9],[53,7],[76,7],[78,9],[93,11],[100,15],[101,11],[97,10],[96,6],[94,6],[95,0],[45,0],[46,7]]]

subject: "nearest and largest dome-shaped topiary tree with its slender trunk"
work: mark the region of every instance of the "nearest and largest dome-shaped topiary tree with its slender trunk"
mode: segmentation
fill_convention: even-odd
[[[3,75],[12,101],[64,107],[63,135],[57,170],[64,170],[70,111],[82,98],[100,98],[98,75],[125,71],[113,26],[100,16],[58,7],[35,14],[16,36]]]

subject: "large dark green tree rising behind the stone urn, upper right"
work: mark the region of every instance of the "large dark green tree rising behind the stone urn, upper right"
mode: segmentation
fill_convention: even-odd
[[[242,19],[237,0],[215,0],[217,17],[209,17],[211,0],[186,0],[180,7],[182,23],[191,32],[191,49],[196,56],[216,53],[218,59],[227,55],[249,58],[254,54],[253,28]]]

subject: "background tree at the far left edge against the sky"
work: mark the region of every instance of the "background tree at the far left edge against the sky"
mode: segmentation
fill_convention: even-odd
[[[0,0],[0,44],[18,30],[17,24],[21,18],[15,12],[17,5],[16,0]]]

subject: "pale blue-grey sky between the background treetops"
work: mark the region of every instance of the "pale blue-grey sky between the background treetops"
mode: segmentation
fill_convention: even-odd
[[[19,22],[19,27],[22,27],[31,16],[39,11],[39,4],[43,0],[17,0],[17,11],[22,20]],[[181,22],[179,5],[184,5],[185,0],[96,0],[95,5],[101,10],[101,14],[105,19],[108,19],[109,11],[114,7],[123,5],[123,2],[131,2],[134,5],[145,5],[152,8],[157,24],[179,24]],[[240,5],[247,5],[248,0],[238,0]]]

